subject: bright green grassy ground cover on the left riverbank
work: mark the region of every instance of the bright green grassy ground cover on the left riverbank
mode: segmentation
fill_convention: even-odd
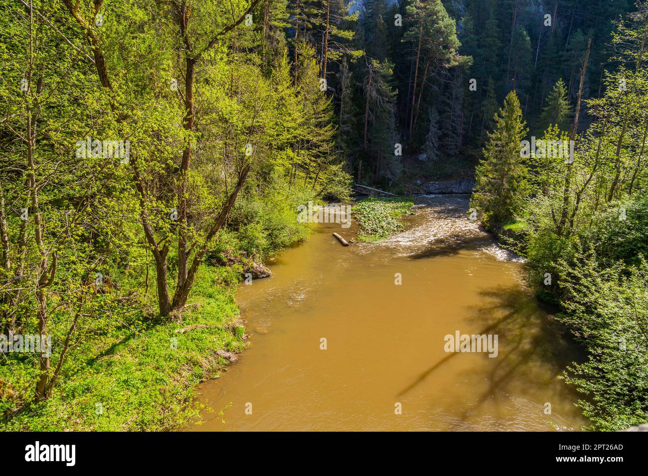
[[[216,352],[239,352],[246,346],[245,329],[237,321],[235,282],[231,269],[203,266],[181,323],[153,323],[142,315],[113,323],[73,353],[51,399],[27,402],[0,427],[160,431],[196,420],[201,408],[195,403],[195,385],[218,376],[227,363]],[[176,332],[192,324],[205,327]],[[0,410],[12,408],[12,396],[32,392],[34,366],[22,357],[12,356],[0,366]]]

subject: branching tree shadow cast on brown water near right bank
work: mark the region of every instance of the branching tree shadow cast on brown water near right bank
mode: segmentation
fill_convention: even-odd
[[[543,400],[538,404],[557,400],[575,401],[573,391],[555,376],[561,374],[572,361],[583,359],[583,352],[570,337],[562,334],[561,326],[553,321],[550,310],[520,288],[519,284],[484,289],[480,297],[480,304],[470,306],[468,319],[469,323],[477,324],[480,330],[470,334],[497,334],[499,352],[494,358],[484,356],[488,361],[492,360],[490,365],[464,368],[461,376],[457,376],[457,381],[487,380],[489,383],[487,389],[476,398],[470,397],[470,402],[463,402],[468,409],[463,411],[450,429],[463,427],[470,414],[475,413],[483,403],[490,401],[498,409],[500,400],[502,403],[510,402],[510,395],[515,393],[536,397],[541,394]],[[413,390],[456,356],[457,353],[449,353],[419,374],[400,394]]]

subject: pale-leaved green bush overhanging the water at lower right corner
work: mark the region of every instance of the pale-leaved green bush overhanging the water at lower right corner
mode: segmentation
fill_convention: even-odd
[[[578,402],[589,429],[618,431],[648,420],[648,266],[601,266],[590,248],[561,260],[566,313],[559,318],[590,350],[564,379],[586,398]]]

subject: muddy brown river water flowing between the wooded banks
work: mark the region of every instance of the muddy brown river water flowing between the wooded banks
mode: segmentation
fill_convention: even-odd
[[[575,392],[557,379],[582,356],[524,286],[524,265],[467,220],[467,196],[417,202],[406,231],[375,244],[342,247],[332,232],[349,239],[355,227],[320,224],[270,264],[272,278],[240,286],[251,345],[200,385],[213,412],[192,430],[572,431],[586,423]],[[497,335],[497,356],[446,352],[445,336],[456,332]]]

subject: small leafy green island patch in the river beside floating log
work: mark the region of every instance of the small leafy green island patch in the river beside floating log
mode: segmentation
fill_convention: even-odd
[[[412,214],[414,203],[406,198],[367,198],[358,201],[353,214],[358,220],[358,240],[376,242],[402,231],[402,217]]]

